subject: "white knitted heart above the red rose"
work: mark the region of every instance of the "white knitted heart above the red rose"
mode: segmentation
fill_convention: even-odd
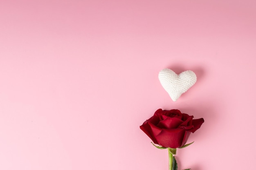
[[[174,102],[196,82],[196,75],[190,70],[177,75],[171,69],[165,68],[159,72],[158,78]]]

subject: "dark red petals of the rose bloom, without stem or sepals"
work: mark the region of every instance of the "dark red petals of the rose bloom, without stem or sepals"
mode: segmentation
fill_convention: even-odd
[[[146,120],[141,130],[150,139],[165,148],[180,148],[186,144],[191,132],[198,130],[204,123],[204,119],[193,119],[180,110],[158,109],[155,114]]]

